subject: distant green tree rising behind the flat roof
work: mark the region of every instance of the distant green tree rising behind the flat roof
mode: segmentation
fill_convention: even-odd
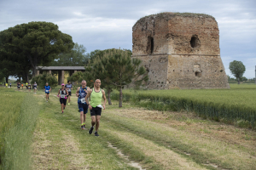
[[[84,66],[88,64],[89,56],[85,54],[84,45],[75,43],[69,53],[61,53],[58,58],[52,62],[52,66]]]

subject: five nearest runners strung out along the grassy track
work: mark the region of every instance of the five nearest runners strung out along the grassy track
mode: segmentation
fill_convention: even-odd
[[[58,91],[57,96],[60,98],[61,103],[61,113],[64,113],[64,110],[67,105],[70,105],[70,97],[71,97],[71,90],[73,86],[70,81],[67,82],[65,85],[64,83],[61,84],[61,88]],[[44,86],[46,102],[49,99],[49,92],[51,88],[49,84],[46,83]],[[86,86],[86,81],[83,80],[81,82],[81,86],[77,88],[76,96],[78,97],[78,106],[79,106],[79,113],[80,113],[80,122],[81,122],[81,129],[85,129],[85,119],[86,113],[88,109],[90,110],[90,117],[91,117],[91,126],[89,133],[91,134],[96,127],[95,136],[99,136],[98,129],[100,127],[100,119],[102,116],[102,109],[105,110],[105,105],[107,102],[105,91],[101,88],[101,80],[96,79],[94,82],[94,88],[90,89]],[[102,98],[104,99],[102,105]],[[89,102],[90,99],[90,102]]]

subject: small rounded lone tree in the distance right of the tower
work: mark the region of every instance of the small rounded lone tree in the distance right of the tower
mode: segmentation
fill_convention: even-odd
[[[245,65],[241,61],[232,61],[230,62],[230,71],[234,77],[237,79],[237,83],[240,84],[241,77],[246,71]]]

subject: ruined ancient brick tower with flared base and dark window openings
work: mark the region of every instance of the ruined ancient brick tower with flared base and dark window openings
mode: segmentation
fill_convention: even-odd
[[[143,60],[147,88],[230,88],[212,16],[152,14],[138,20],[132,31],[132,57]]]

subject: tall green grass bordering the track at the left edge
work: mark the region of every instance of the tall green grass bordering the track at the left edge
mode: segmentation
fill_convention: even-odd
[[[1,163],[0,169],[30,169],[33,130],[39,105],[32,94],[0,88]]]

